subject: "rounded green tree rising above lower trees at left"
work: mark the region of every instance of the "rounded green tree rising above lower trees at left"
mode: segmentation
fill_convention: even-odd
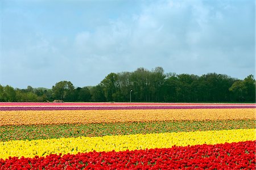
[[[75,87],[71,82],[61,81],[52,86],[53,97],[58,100],[72,101]]]

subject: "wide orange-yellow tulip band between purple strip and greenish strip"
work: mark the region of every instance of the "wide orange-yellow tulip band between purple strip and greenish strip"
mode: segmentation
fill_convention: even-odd
[[[102,122],[255,120],[255,109],[134,109],[91,111],[0,111],[0,126]]]

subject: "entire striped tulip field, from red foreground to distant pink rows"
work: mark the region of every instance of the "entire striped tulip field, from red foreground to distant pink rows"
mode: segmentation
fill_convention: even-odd
[[[255,169],[256,104],[0,103],[0,169]]]

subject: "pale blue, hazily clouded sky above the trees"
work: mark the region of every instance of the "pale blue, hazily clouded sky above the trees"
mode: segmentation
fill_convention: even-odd
[[[0,2],[0,84],[96,86],[109,73],[255,77],[255,1]]]

